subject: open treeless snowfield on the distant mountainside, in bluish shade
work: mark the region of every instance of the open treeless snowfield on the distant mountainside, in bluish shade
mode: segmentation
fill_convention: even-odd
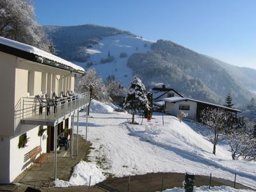
[[[97,74],[106,79],[108,76],[114,75],[115,79],[120,81],[124,86],[128,86],[132,79],[132,70],[127,67],[127,59],[134,52],[150,51],[152,41],[143,38],[137,38],[127,35],[106,36],[100,40],[99,45],[93,45],[92,49],[88,49],[90,58],[88,61],[93,62],[92,68],[97,70]],[[147,47],[145,47],[147,44]],[[137,50],[138,47],[138,50]],[[111,63],[100,63],[101,58],[110,55],[115,57]],[[120,58],[120,52],[126,52],[126,58]],[[79,66],[86,67],[85,63],[74,62]]]

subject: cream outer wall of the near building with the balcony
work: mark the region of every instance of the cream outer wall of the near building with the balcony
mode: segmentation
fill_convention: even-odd
[[[28,92],[29,97],[42,91],[61,92],[63,89],[59,88],[58,80],[61,77],[66,78],[68,87],[65,90],[74,92],[74,74],[3,52],[0,52],[0,58],[0,115],[4,117],[0,126],[0,183],[9,183],[30,166],[31,162],[24,162],[26,153],[38,145],[42,146],[42,152],[46,152],[47,148],[47,135],[44,140],[37,135],[39,126],[20,124],[22,97],[28,97]],[[28,147],[19,148],[19,136],[25,132],[29,138]]]

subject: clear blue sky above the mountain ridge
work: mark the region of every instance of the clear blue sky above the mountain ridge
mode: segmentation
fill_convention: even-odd
[[[34,0],[42,25],[98,24],[256,68],[254,0]]]

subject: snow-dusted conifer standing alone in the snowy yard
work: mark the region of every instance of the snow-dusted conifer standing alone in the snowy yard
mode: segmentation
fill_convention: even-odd
[[[143,112],[149,109],[149,103],[146,89],[139,77],[132,77],[130,88],[124,100],[124,109],[132,114],[132,124],[134,124],[134,116],[137,112]]]

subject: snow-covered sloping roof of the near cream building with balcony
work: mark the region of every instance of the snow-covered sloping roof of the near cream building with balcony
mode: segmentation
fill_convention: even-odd
[[[53,63],[56,63],[56,65],[54,65],[54,67],[63,68],[65,70],[72,70],[74,72],[84,73],[84,68],[79,67],[69,61],[63,60],[62,58],[59,58],[58,56],[55,56],[49,52],[42,51],[41,49],[38,49],[31,45],[22,44],[15,40],[10,40],[8,38],[4,38],[1,36],[0,36],[0,44],[6,45],[9,48],[13,48],[13,50],[10,50],[10,49],[8,50],[8,49],[4,49],[5,47],[3,47],[3,49],[2,49],[2,47],[0,47],[0,51],[7,52],[9,54],[14,54],[15,56],[19,56],[20,58],[25,58],[25,59],[33,58],[32,56],[34,55],[34,56],[37,56],[37,57],[35,57],[36,58],[35,61],[37,63],[44,63],[44,60],[48,60],[48,61],[52,61]],[[22,57],[22,54],[20,54],[17,50],[28,52],[29,54],[31,54],[31,56],[24,55],[24,57]],[[49,63],[49,62],[47,62],[47,63]],[[46,64],[46,63],[44,63],[44,64]],[[58,64],[60,64],[60,65],[58,65]],[[61,66],[61,65],[63,65],[63,66]]]

